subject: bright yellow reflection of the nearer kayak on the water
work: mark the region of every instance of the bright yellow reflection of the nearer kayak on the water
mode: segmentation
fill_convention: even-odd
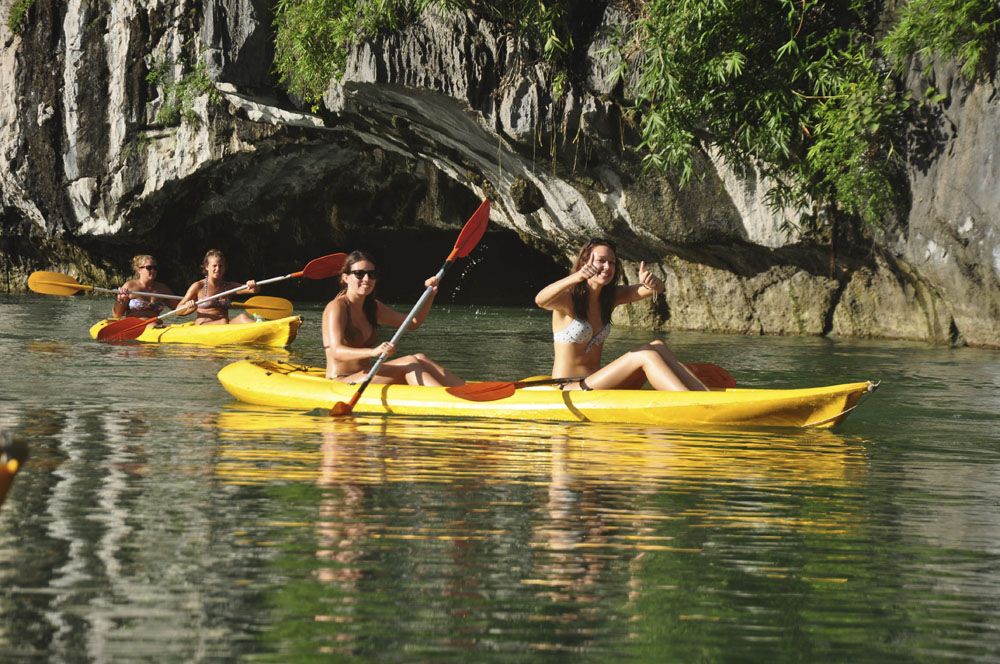
[[[453,482],[551,484],[565,481],[645,488],[672,481],[759,486],[856,483],[865,472],[861,439],[828,430],[675,432],[616,424],[505,420],[307,417],[231,404],[217,425],[224,447],[217,475],[228,482],[315,481],[319,448],[340,441],[338,477],[357,484]],[[379,441],[381,454],[365,441]],[[381,457],[381,458],[380,458]]]

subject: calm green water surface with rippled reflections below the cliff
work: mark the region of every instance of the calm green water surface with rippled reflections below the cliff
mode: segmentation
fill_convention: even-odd
[[[215,379],[320,363],[318,305],[291,351],[98,343],[108,305],[0,295],[3,661],[1000,660],[1000,353],[665,337],[744,385],[881,380],[832,431],[331,420]],[[547,330],[441,306],[401,346],[510,379]]]

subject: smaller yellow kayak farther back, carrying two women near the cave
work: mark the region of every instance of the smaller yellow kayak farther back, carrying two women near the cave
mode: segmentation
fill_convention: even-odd
[[[116,319],[108,318],[95,323],[90,328],[90,336],[97,333]],[[287,346],[295,339],[302,325],[301,316],[287,316],[259,323],[230,323],[228,325],[195,325],[194,321],[147,327],[139,335],[138,341],[170,344],[202,344],[222,346],[225,344],[257,344],[261,346]]]

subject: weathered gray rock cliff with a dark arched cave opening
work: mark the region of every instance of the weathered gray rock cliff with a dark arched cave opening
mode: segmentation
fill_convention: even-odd
[[[1000,347],[989,84],[935,70],[950,97],[913,127],[909,217],[838,242],[831,269],[829,247],[783,230],[796,219],[767,209],[764,183],[715,155],[683,189],[643,171],[598,55],[614,9],[594,17],[559,99],[501,29],[431,12],[359,45],[314,113],[272,73],[270,4],[36,0],[22,34],[0,27],[0,288],[35,269],[114,283],[151,246],[178,272],[223,241],[248,269],[295,265],[374,227],[457,229],[489,198],[494,226],[532,249],[569,258],[609,236],[631,280],[653,264],[666,299],[622,324]],[[198,62],[211,94],[158,123]],[[147,80],[157,63],[173,83]],[[927,85],[919,72],[909,84]]]

